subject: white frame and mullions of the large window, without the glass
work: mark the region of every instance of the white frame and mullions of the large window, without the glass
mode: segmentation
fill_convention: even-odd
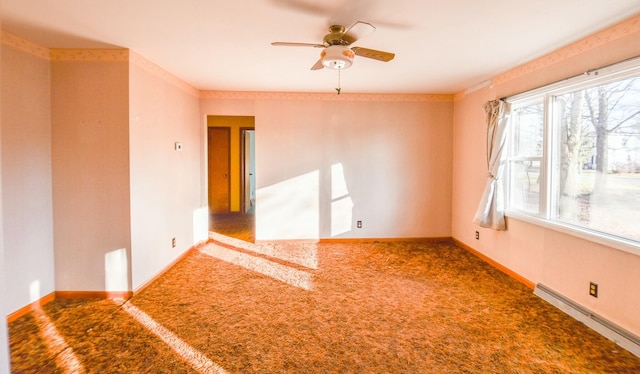
[[[629,59],[614,65],[610,65],[604,68],[590,70],[584,74],[559,81],[544,87],[533,89],[518,95],[508,97],[507,102],[511,103],[513,107],[530,103],[536,98],[543,98],[544,102],[544,144],[542,160],[540,162],[540,207],[538,214],[532,214],[526,211],[517,210],[510,206],[510,168],[507,167],[505,175],[505,193],[506,196],[506,211],[505,215],[508,218],[517,219],[520,221],[532,223],[538,226],[549,228],[555,231],[559,231],[568,235],[572,235],[581,239],[586,239],[594,243],[612,247],[624,252],[632,253],[640,256],[640,242],[622,238],[614,234],[606,234],[599,231],[595,231],[586,227],[572,225],[554,219],[552,215],[552,208],[554,202],[552,201],[555,196],[552,192],[552,164],[553,160],[558,157],[556,137],[557,131],[551,128],[553,112],[551,105],[553,105],[553,97],[562,95],[564,93],[573,92],[586,87],[594,86],[597,84],[604,84],[609,81],[619,80],[626,77],[640,74],[640,57]],[[510,134],[507,139],[510,139]],[[509,140],[507,140],[509,141]],[[510,150],[510,147],[508,148]],[[510,155],[509,155],[510,156]],[[508,156],[508,157],[509,157]],[[507,160],[509,158],[507,157]]]

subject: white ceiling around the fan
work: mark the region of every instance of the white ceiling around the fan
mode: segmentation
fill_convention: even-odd
[[[331,24],[377,30],[354,45],[343,92],[456,93],[640,13],[638,0],[3,0],[2,28],[51,48],[130,48],[202,90],[333,92],[310,70]]]

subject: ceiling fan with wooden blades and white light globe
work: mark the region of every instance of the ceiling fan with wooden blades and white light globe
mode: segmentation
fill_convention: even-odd
[[[271,45],[322,48],[320,59],[311,67],[311,70],[322,68],[346,69],[353,64],[353,59],[356,55],[384,62],[393,60],[394,53],[351,46],[356,40],[373,32],[375,29],[372,24],[363,21],[354,23],[348,29],[345,29],[342,25],[332,25],[329,27],[329,33],[324,36],[322,44],[273,42]]]

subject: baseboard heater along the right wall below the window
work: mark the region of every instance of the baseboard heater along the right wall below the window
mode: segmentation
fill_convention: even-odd
[[[555,292],[549,287],[546,287],[543,284],[538,283],[533,293],[541,299],[547,301],[551,305],[555,306],[556,308],[567,313],[571,317],[584,323],[591,329],[598,332],[600,335],[614,341],[622,348],[640,357],[640,337],[633,334],[632,332],[627,331],[624,328],[593,313],[589,309],[560,295],[559,293]]]

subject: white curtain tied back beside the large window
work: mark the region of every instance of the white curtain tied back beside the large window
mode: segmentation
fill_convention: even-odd
[[[495,230],[506,230],[504,220],[503,148],[507,136],[507,123],[511,104],[492,100],[484,105],[487,113],[487,169],[489,176],[473,218],[473,223]]]

